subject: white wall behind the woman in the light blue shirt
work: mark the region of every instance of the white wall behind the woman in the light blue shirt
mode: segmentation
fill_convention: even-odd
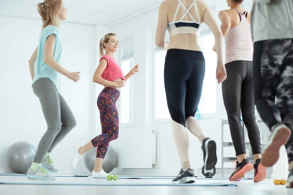
[[[37,148],[46,130],[28,67],[28,59],[38,45],[42,22],[0,17],[0,26],[0,173],[9,173],[6,149],[17,141],[27,141]],[[74,145],[85,144],[95,135],[95,27],[63,23],[60,37],[61,64],[69,71],[81,71],[81,79],[75,83],[62,77],[60,92],[72,109],[77,126],[55,148],[52,158],[60,174],[86,173],[81,162],[76,170],[71,168],[71,155]]]

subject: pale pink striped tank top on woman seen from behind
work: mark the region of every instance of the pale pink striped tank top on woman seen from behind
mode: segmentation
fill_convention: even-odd
[[[247,12],[241,13],[235,9],[241,21],[238,25],[230,28],[225,36],[226,64],[231,61],[253,59],[253,42],[251,38],[251,25],[246,18]]]

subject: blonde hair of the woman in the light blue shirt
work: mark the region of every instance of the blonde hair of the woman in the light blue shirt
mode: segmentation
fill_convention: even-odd
[[[61,20],[59,18],[59,12],[63,6],[62,0],[44,0],[38,3],[38,12],[42,17],[42,28],[51,24],[59,27]]]

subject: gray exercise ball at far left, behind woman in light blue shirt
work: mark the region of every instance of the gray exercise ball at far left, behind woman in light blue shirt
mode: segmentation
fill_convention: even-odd
[[[9,169],[16,174],[27,173],[35,155],[36,148],[28,142],[19,141],[12,144],[6,154]]]

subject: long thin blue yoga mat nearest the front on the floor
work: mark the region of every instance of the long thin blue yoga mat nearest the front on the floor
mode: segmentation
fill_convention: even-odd
[[[54,182],[6,182],[0,181],[4,185],[70,185],[70,186],[229,186],[236,187],[235,184],[230,183],[190,183],[190,184],[172,184],[172,183],[118,183],[111,181],[108,183],[54,183]]]

